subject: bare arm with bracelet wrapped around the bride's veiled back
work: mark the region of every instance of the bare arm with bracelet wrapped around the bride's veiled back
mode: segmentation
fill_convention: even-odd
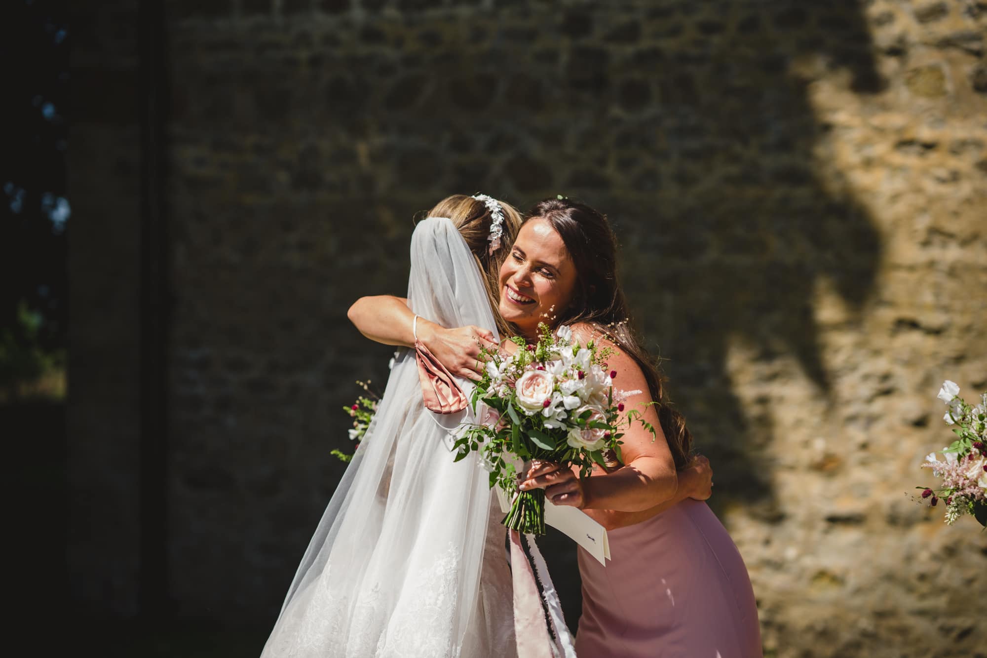
[[[374,342],[415,346],[415,313],[403,297],[389,294],[360,297],[349,307],[346,316],[361,334]],[[473,380],[480,379],[478,372],[483,368],[480,348],[496,346],[490,331],[473,325],[446,329],[418,317],[417,333],[418,340],[446,370]]]

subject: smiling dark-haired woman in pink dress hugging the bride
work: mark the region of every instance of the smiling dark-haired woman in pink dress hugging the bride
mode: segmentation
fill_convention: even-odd
[[[628,410],[649,406],[624,438],[624,463],[580,479],[555,463],[532,463],[521,488],[544,488],[557,505],[580,508],[608,529],[604,567],[579,549],[580,658],[750,658],[761,656],[754,592],[740,553],[706,503],[672,505],[676,468],[692,439],[666,403],[662,377],[624,323],[629,313],[616,276],[616,240],[588,206],[548,200],[534,207],[500,268],[499,310],[534,339],[548,314],[580,341],[606,331],[620,353],[609,359],[628,391]]]

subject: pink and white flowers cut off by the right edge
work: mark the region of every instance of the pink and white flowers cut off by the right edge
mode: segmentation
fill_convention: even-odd
[[[987,528],[987,392],[980,394],[979,404],[970,405],[959,397],[959,386],[947,379],[938,397],[949,405],[943,420],[954,426],[956,440],[942,450],[943,461],[930,452],[922,464],[942,478],[942,486],[916,488],[923,490],[922,498],[933,507],[940,498],[946,502],[950,526],[969,514]]]

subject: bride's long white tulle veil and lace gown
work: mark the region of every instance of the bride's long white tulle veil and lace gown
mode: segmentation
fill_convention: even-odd
[[[480,269],[451,220],[420,221],[411,256],[412,310],[496,334]],[[469,395],[470,383],[458,381]],[[476,421],[469,407],[425,410],[414,351],[396,359],[262,658],[515,654],[505,531],[489,475],[478,452],[455,463],[450,452],[449,431]]]

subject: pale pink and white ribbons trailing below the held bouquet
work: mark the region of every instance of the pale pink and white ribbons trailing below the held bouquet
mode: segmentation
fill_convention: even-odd
[[[510,531],[510,570],[514,581],[514,636],[517,639],[517,658],[556,658],[563,655],[575,658],[572,635],[562,616],[562,604],[549,577],[545,558],[538,550],[531,535],[525,535],[532,560],[542,582],[542,593],[531,569],[528,556],[521,547],[521,535]],[[542,601],[549,611],[552,628],[558,644],[549,635],[548,623]]]

